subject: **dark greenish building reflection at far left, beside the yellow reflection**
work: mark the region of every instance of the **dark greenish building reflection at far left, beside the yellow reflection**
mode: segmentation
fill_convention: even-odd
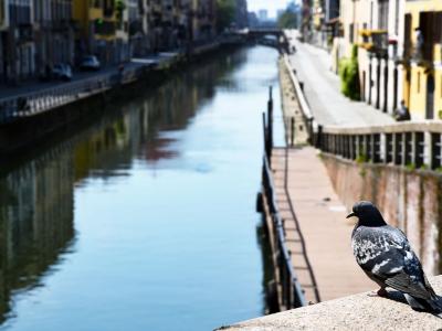
[[[0,317],[72,246],[74,173],[70,153],[30,161],[0,180]]]

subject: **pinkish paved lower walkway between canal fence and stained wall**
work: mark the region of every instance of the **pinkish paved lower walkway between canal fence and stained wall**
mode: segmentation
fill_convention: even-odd
[[[322,301],[377,289],[367,278],[352,256],[350,236],[354,227],[346,220],[347,211],[338,200],[327,171],[317,151],[312,147],[288,150],[288,196],[276,188],[277,204],[287,233],[287,246],[292,250],[293,264],[306,299],[314,300],[312,277],[306,269],[306,254]],[[275,185],[284,178],[285,152],[273,151],[272,169]],[[298,225],[290,216],[291,200]],[[297,232],[301,231],[306,245],[303,252]]]

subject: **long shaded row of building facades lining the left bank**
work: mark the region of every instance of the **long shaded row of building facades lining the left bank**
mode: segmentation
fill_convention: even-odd
[[[246,1],[236,19],[246,22]],[[215,35],[215,0],[0,0],[0,84],[51,77],[57,64],[103,66],[187,50]]]

